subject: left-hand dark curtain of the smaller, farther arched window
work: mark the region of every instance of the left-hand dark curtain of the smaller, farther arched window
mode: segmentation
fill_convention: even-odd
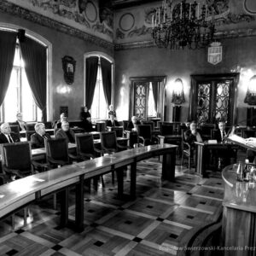
[[[90,57],[86,59],[85,102],[88,110],[90,110],[93,101],[98,73],[98,61],[98,57]]]

